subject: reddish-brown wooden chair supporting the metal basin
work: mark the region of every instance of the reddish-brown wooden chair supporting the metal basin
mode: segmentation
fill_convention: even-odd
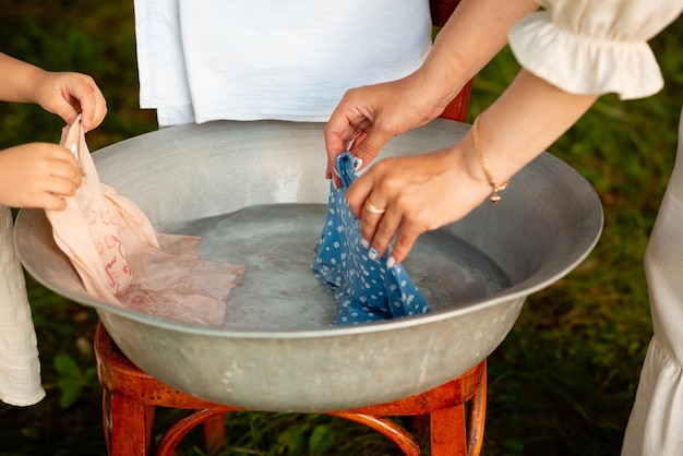
[[[431,0],[434,25],[442,26],[459,0]],[[442,118],[465,121],[471,81]],[[103,385],[103,421],[110,456],[172,456],[192,429],[203,424],[207,449],[225,445],[224,416],[243,409],[199,399],[170,388],[135,367],[101,323],[95,334],[97,375]],[[187,409],[154,443],[156,407]],[[415,436],[391,417],[415,417],[419,433],[429,430],[431,456],[476,456],[481,452],[487,408],[486,360],[457,379],[426,393],[388,404],[326,415],[367,425],[394,442],[405,455],[421,455]],[[420,430],[421,428],[421,430]]]

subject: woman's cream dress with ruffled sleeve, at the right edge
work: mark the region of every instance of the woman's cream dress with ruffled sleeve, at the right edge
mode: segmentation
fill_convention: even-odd
[[[576,94],[651,95],[662,76],[647,40],[673,22],[683,0],[546,0],[510,34],[519,63]],[[683,70],[683,69],[682,69]],[[623,456],[683,455],[683,127],[673,176],[645,255],[655,335]]]

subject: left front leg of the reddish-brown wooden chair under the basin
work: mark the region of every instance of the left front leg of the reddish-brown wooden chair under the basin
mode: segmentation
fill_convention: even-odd
[[[103,394],[105,442],[109,456],[152,455],[154,406],[112,394]]]

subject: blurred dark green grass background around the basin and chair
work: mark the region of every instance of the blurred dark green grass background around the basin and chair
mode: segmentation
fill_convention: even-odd
[[[604,205],[603,236],[566,278],[528,299],[489,359],[484,455],[610,455],[621,447],[651,337],[643,252],[670,176],[683,101],[683,23],[651,45],[667,81],[644,100],[601,98],[551,152],[577,168]],[[109,113],[88,133],[92,151],[156,129],[137,107],[131,0],[0,0],[0,50],[53,71],[91,74]],[[475,81],[470,120],[518,70],[507,50]],[[0,148],[59,140],[62,121],[40,108],[0,104]],[[95,313],[29,281],[48,396],[0,404],[0,455],[101,455]],[[160,425],[173,418],[160,413]],[[396,455],[356,424],[320,416],[237,413],[226,418],[223,455]],[[199,435],[179,454],[202,455]]]

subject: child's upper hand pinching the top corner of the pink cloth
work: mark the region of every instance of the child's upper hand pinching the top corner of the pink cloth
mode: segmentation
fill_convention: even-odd
[[[99,125],[107,113],[107,101],[95,81],[81,73],[38,71],[34,98],[45,110],[71,124],[80,112],[85,131]]]

